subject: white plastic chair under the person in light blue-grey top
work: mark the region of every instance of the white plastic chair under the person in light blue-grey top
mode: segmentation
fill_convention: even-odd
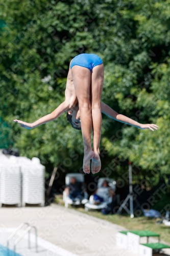
[[[105,180],[107,180],[107,182],[108,182],[110,188],[111,188],[113,191],[115,191],[115,189],[116,189],[116,181],[115,181],[114,179],[109,179],[109,178],[100,178],[100,179],[98,180],[98,188],[99,188],[99,187],[102,187],[103,182],[104,182]],[[112,202],[112,197],[110,196],[107,201],[104,201],[104,202],[102,202],[102,203],[99,204],[99,205],[95,205],[95,204],[94,204],[94,196],[91,195],[90,198],[89,198],[89,201],[88,201],[87,203],[85,203],[85,210],[88,211],[89,209],[96,209],[96,210],[98,210],[98,209],[104,209],[104,208],[107,207],[107,205],[108,205],[109,203],[111,203],[111,202]]]

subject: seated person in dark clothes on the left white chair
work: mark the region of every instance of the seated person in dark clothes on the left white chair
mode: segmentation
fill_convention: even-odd
[[[70,184],[65,188],[66,195],[73,201],[78,198],[80,201],[83,199],[82,182],[78,182],[75,177],[71,177]]]

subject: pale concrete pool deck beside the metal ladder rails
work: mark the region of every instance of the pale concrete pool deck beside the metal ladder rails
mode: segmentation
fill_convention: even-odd
[[[126,230],[124,227],[82,214],[74,209],[66,209],[54,204],[47,207],[0,208],[0,234],[3,234],[3,230],[17,227],[22,222],[37,227],[39,244],[42,247],[44,245],[45,248],[50,248],[53,245],[54,254],[44,251],[41,255],[137,256],[115,245],[116,232]],[[32,236],[31,240],[33,239]],[[170,255],[170,249],[164,251],[166,255]],[[30,253],[25,252],[24,255]],[[32,252],[31,255],[34,253]],[[40,253],[35,255],[39,256]]]

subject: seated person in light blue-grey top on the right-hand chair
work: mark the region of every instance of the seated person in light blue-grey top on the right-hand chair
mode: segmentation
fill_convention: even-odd
[[[98,187],[93,194],[94,203],[107,202],[113,196],[113,193],[107,180],[104,180],[102,187]]]

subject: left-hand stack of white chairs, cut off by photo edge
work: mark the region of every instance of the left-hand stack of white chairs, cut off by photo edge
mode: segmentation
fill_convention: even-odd
[[[4,155],[0,155],[0,206],[21,205],[20,166]]]

